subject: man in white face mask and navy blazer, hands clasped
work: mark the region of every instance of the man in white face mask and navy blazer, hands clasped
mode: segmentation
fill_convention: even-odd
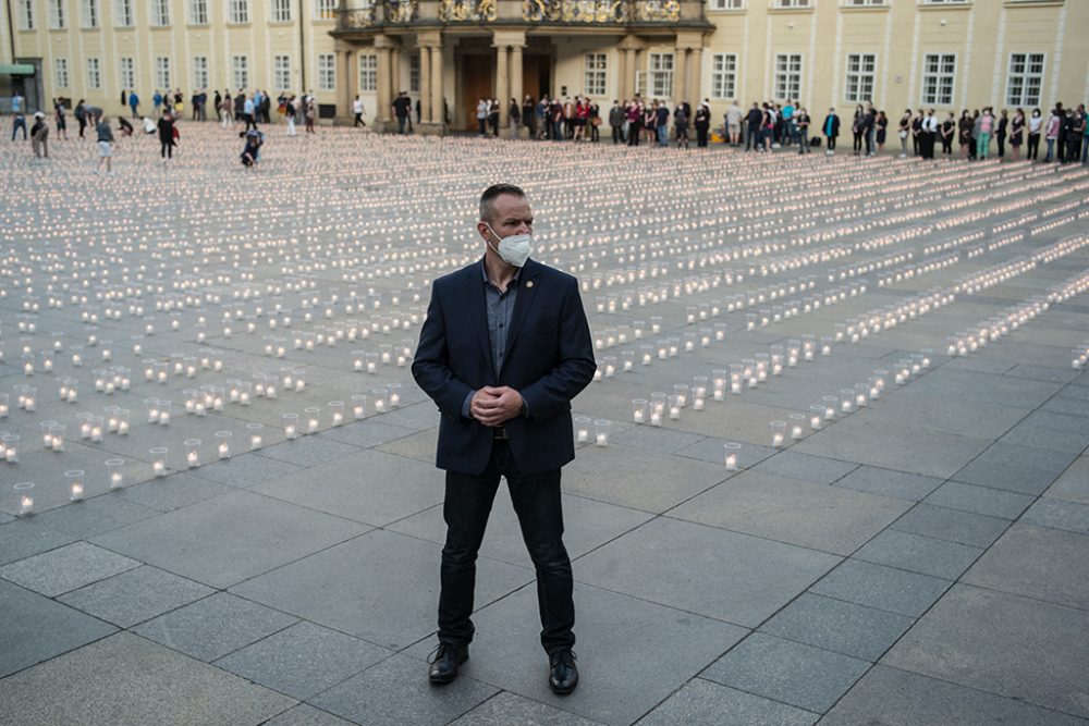
[[[528,259],[533,223],[522,189],[485,190],[484,259],[435,281],[413,361],[442,414],[436,464],[446,471],[439,648],[428,678],[448,684],[468,659],[477,552],[503,477],[537,570],[549,686],[566,694],[578,669],[560,469],[575,457],[571,399],[596,364],[578,282]]]

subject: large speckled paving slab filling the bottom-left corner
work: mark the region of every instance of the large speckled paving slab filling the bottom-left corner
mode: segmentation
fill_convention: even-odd
[[[0,722],[10,726],[257,726],[293,704],[129,632],[0,680]]]

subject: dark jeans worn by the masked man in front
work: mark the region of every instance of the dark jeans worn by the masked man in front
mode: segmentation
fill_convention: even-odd
[[[541,645],[549,653],[570,649],[575,643],[572,632],[575,605],[571,559],[563,546],[560,470],[522,475],[510,445],[498,440],[492,444],[491,462],[484,473],[446,472],[446,500],[442,508],[446,544],[442,547],[439,642],[467,645],[473,640],[475,629],[469,616],[476,558],[500,477],[506,478],[522,538],[537,568]]]

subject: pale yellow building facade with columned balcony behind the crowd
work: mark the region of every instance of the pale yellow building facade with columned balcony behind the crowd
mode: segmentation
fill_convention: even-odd
[[[475,127],[480,97],[795,99],[815,115],[1047,108],[1089,97],[1089,0],[7,0],[0,63],[32,107],[135,88],[313,91],[389,127]],[[209,111],[210,112],[210,111]]]

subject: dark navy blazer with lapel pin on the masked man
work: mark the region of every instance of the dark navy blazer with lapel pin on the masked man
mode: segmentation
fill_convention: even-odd
[[[571,399],[597,367],[575,278],[528,260],[498,380],[491,358],[480,262],[474,262],[431,284],[412,365],[416,382],[442,414],[436,465],[469,475],[488,467],[494,430],[462,417],[465,397],[485,385],[509,385],[529,407],[528,416],[504,423],[522,473],[559,469],[575,458]]]

